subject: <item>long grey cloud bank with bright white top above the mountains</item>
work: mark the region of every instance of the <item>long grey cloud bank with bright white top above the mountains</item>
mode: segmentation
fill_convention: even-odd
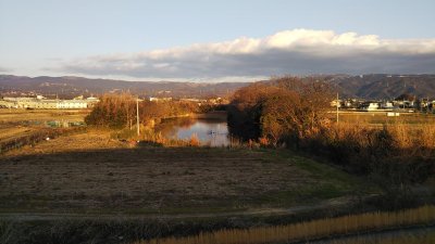
[[[134,78],[219,79],[284,74],[434,73],[435,39],[293,29],[264,38],[119,53],[64,62],[63,72]]]

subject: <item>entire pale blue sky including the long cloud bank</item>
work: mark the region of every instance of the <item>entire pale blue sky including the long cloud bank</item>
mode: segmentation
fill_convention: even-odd
[[[0,74],[434,74],[433,0],[0,0]]]

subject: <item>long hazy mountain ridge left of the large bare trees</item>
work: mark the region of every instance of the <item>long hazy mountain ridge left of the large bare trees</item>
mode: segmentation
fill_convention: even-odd
[[[247,82],[173,82],[124,81],[88,79],[83,77],[25,77],[0,75],[0,93],[5,95],[44,94],[46,97],[73,98],[99,95],[107,92],[130,92],[141,97],[207,98],[227,97]]]

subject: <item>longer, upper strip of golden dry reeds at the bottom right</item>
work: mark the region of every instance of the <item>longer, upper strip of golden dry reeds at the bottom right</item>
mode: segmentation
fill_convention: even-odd
[[[202,232],[184,237],[139,241],[135,244],[260,244],[309,241],[334,235],[380,231],[397,227],[433,224],[435,206],[423,206],[395,213],[369,213],[326,218],[276,227],[258,227]]]

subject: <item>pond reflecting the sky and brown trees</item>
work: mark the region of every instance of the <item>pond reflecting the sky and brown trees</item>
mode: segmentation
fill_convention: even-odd
[[[211,117],[166,119],[156,129],[166,138],[189,140],[196,134],[202,145],[229,145],[225,114]]]

